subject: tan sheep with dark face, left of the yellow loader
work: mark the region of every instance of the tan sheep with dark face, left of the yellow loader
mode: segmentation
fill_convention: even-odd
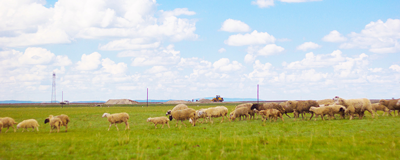
[[[186,109],[181,109],[181,110],[168,110],[166,112],[166,115],[170,115],[169,116],[169,120],[176,119],[176,124],[175,127],[178,126],[178,121],[180,120],[180,122],[182,122],[182,124],[184,126],[186,126],[186,124],[183,123],[183,120],[187,120],[189,119],[189,122],[191,123],[191,126],[196,126],[196,110],[194,110],[193,108],[186,108]]]

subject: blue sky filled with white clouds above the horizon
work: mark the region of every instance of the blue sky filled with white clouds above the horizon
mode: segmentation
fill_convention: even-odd
[[[0,0],[0,100],[400,97],[399,0]]]

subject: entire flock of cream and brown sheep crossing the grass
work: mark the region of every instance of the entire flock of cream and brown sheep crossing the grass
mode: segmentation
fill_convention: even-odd
[[[227,116],[228,109],[225,106],[215,106],[195,110],[193,108],[187,107],[187,105],[185,104],[177,104],[175,107],[172,108],[172,110],[168,110],[165,113],[165,115],[169,115],[169,118],[165,116],[149,117],[147,118],[147,122],[154,123],[155,128],[157,128],[157,124],[162,124],[161,128],[164,127],[164,124],[167,124],[169,128],[168,121],[172,119],[176,119],[175,126],[177,126],[179,120],[184,126],[186,126],[186,124],[183,123],[183,120],[189,120],[192,126],[195,126],[196,121],[203,123],[204,120],[205,122],[208,122],[209,119],[210,122],[213,123],[212,118],[215,117],[222,117],[222,120],[220,122],[223,122],[224,117],[226,117],[229,121],[235,120],[236,118],[238,118],[238,120],[241,120],[241,117],[243,117],[243,120],[246,120],[248,118],[251,119],[251,116],[254,118],[255,114],[257,115],[257,117],[258,115],[261,115],[262,121],[267,120],[267,118],[269,118],[269,121],[271,121],[272,119],[276,121],[278,117],[281,118],[283,121],[282,115],[287,115],[287,113],[290,112],[293,112],[294,120],[296,120],[296,118],[298,118],[300,114],[302,119],[304,120],[305,113],[311,114],[311,117],[309,119],[311,119],[312,116],[315,114],[315,120],[318,116],[321,116],[322,120],[324,120],[324,115],[327,115],[328,118],[332,119],[335,118],[335,114],[339,114],[341,118],[345,118],[345,116],[347,115],[349,116],[349,119],[353,119],[354,116],[358,116],[359,119],[361,119],[364,116],[365,111],[370,112],[373,118],[374,115],[377,114],[376,110],[384,111],[382,115],[384,115],[385,113],[386,115],[391,115],[390,112],[392,110],[394,111],[394,115],[395,110],[397,110],[397,114],[399,114],[400,99],[380,99],[378,103],[371,104],[370,100],[366,98],[343,99],[335,96],[332,99],[323,100],[289,100],[282,103],[269,102],[261,104],[243,103],[237,105],[234,110],[229,113],[229,117]],[[287,116],[290,118],[289,115]],[[106,117],[107,120],[110,122],[108,130],[112,124],[115,124],[116,129],[119,130],[116,124],[122,122],[125,123],[125,130],[129,129],[129,114],[126,112],[114,114],[104,113],[101,117]],[[203,120],[199,121],[201,118],[203,118]],[[65,114],[57,116],[49,115],[44,120],[44,123],[47,122],[50,124],[50,133],[51,131],[53,131],[53,129],[57,129],[57,132],[59,132],[60,126],[65,126],[66,132],[68,128],[69,117]],[[0,117],[0,133],[3,127],[7,127],[7,130],[5,130],[5,132],[7,132],[10,126],[14,129],[15,132],[16,130],[13,124],[16,124],[14,119],[10,117]],[[32,128],[32,131],[34,131],[34,128],[36,127],[36,130],[39,131],[38,126],[39,124],[35,119],[26,119],[18,123],[16,125],[16,129],[22,128],[23,132],[24,129],[28,131],[27,128]]]

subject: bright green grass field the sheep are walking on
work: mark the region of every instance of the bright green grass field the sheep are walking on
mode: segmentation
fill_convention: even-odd
[[[231,111],[237,103],[224,103]],[[284,115],[284,122],[258,119],[197,123],[187,127],[176,120],[170,128],[154,129],[148,117],[165,116],[175,104],[89,107],[85,105],[1,105],[0,117],[20,122],[34,118],[39,131],[0,134],[0,159],[398,159],[400,116],[322,121],[297,120]],[[194,109],[216,104],[188,104]],[[197,106],[199,105],[199,106]],[[101,118],[102,113],[127,112],[130,130],[119,131]],[[378,112],[382,113],[382,112]],[[67,114],[68,132],[49,133],[44,124],[49,114]],[[292,116],[292,114],[289,114]],[[309,117],[310,114],[307,115]],[[16,127],[16,124],[14,125]],[[31,129],[31,128],[30,128]],[[29,129],[29,130],[30,130]]]

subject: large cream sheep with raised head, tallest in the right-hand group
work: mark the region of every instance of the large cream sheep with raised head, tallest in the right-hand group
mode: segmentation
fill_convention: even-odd
[[[358,98],[358,99],[343,99],[338,96],[333,97],[333,100],[335,101],[336,104],[343,105],[347,109],[347,114],[350,116],[349,119],[354,118],[354,113],[359,114],[359,119],[361,119],[364,116],[364,111],[367,110],[371,113],[372,118],[374,118],[374,114],[372,112],[371,108],[371,101],[367,98]],[[354,109],[352,109],[352,107]],[[345,111],[345,113],[346,113]]]

